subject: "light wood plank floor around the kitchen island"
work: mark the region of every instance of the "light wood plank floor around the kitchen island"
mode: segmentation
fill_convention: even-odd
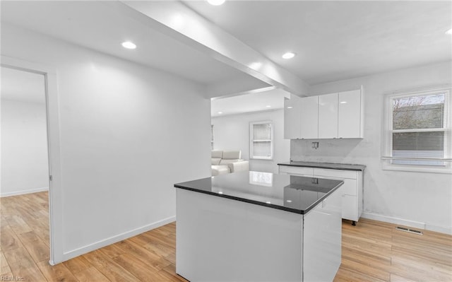
[[[175,223],[49,266],[47,192],[0,198],[0,207],[0,281],[185,281],[174,272]],[[452,236],[422,231],[343,221],[335,281],[452,281]]]

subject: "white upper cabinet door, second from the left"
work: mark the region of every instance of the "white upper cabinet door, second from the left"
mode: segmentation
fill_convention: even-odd
[[[319,138],[319,96],[301,99],[301,136],[302,139]]]

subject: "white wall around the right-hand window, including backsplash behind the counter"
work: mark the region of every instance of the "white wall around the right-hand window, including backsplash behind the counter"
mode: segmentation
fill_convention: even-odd
[[[452,233],[452,175],[381,169],[383,96],[394,90],[451,83],[451,62],[376,74],[311,87],[312,95],[364,86],[364,139],[291,141],[292,160],[367,165],[364,216]]]

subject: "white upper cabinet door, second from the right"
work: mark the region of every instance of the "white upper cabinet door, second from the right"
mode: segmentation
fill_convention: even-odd
[[[319,96],[319,139],[338,137],[338,93]]]

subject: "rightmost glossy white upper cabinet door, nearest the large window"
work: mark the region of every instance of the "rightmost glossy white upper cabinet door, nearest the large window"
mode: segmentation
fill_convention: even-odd
[[[361,90],[338,94],[338,137],[362,138]]]

